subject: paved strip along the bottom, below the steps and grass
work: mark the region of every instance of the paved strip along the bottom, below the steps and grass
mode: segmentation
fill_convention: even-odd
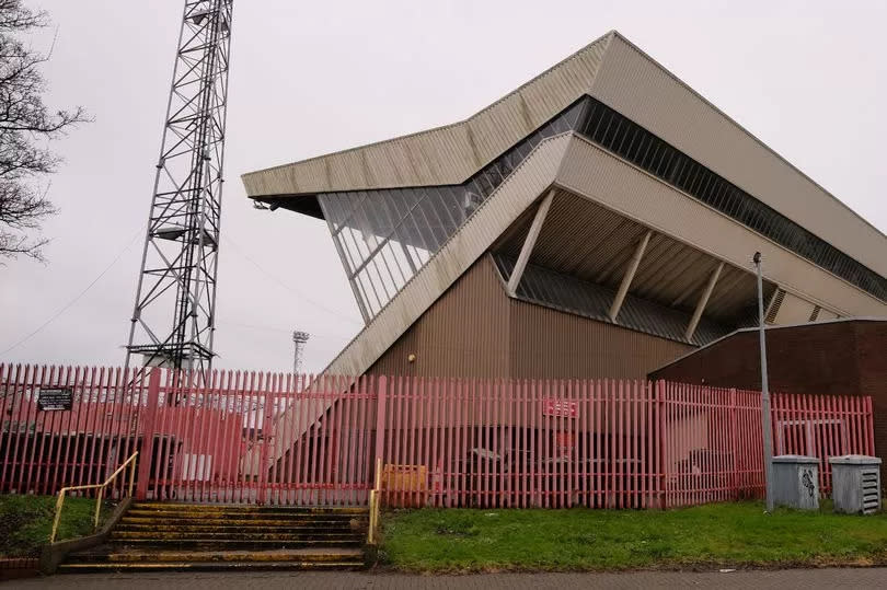
[[[404,576],[366,572],[256,572],[256,574],[116,574],[69,575],[51,578],[13,580],[0,588],[105,590],[162,588],[164,590],[219,590],[247,588],[275,590],[367,589],[416,590],[456,589],[510,590],[550,588],[887,588],[887,568],[790,569],[781,571],[667,572],[631,574],[487,574],[482,576]]]

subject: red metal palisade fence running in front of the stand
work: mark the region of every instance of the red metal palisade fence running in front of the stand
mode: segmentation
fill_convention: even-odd
[[[764,488],[750,391],[0,366],[0,493],[99,482],[134,451],[139,497],[195,502],[364,506],[376,458],[388,506],[668,508]],[[819,458],[823,494],[828,458],[874,453],[869,397],[772,405],[774,452]]]

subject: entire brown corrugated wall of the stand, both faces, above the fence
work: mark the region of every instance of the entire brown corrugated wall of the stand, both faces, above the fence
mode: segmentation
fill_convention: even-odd
[[[693,347],[509,299],[484,256],[372,366],[417,377],[638,378]],[[413,362],[410,355],[415,355]]]

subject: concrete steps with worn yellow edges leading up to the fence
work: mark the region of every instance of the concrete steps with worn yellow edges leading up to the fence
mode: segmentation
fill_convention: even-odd
[[[365,508],[136,502],[106,545],[59,571],[355,569],[367,519]]]

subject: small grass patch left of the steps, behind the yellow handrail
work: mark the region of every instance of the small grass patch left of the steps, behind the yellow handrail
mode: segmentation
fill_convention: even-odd
[[[111,513],[108,508],[105,502],[101,521]],[[38,556],[49,541],[55,509],[56,496],[0,496],[0,556]],[[94,510],[94,499],[66,498],[57,541],[92,534]]]

